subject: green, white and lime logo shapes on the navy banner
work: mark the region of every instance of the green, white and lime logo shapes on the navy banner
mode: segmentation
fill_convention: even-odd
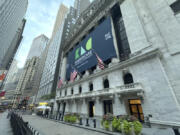
[[[79,59],[83,54],[92,49],[92,38],[89,38],[86,42],[85,48],[82,46],[77,48],[75,51],[75,60]]]

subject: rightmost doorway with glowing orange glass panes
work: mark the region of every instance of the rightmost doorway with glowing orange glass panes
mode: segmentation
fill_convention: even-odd
[[[129,108],[130,108],[131,115],[135,116],[141,122],[144,121],[144,115],[143,115],[140,99],[130,99]]]

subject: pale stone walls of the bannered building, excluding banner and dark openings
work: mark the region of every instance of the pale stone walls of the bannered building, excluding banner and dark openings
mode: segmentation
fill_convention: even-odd
[[[55,111],[89,116],[89,102],[94,101],[94,117],[101,117],[105,114],[104,101],[111,100],[113,114],[124,115],[131,114],[129,100],[139,99],[144,117],[152,116],[152,123],[180,124],[180,23],[179,15],[174,15],[170,7],[174,0],[107,1],[99,1],[108,3],[105,10],[99,12],[101,7],[98,7],[93,21],[86,26],[82,24],[81,33],[74,34],[67,42],[60,75],[65,78],[66,52],[87,34],[90,26],[98,25],[103,16],[111,16],[110,10],[115,4],[121,10],[131,54],[125,60],[119,56],[112,21],[118,58],[113,58],[105,70],[97,67],[93,74],[86,71],[82,78],[77,77],[73,83],[66,82],[57,89]],[[93,14],[89,18],[91,16]],[[130,84],[125,84],[127,74],[132,76]],[[105,80],[108,88],[104,87]],[[93,91],[89,89],[91,83]]]

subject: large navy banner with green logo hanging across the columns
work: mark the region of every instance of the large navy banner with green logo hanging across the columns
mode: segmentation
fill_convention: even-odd
[[[97,65],[94,53],[103,61],[117,57],[113,43],[110,17],[104,20],[94,31],[87,35],[85,39],[69,52],[66,79],[69,80],[73,68],[81,73]]]

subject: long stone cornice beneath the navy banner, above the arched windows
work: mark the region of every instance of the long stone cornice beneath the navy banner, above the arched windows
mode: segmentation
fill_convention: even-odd
[[[130,65],[139,63],[139,62],[144,61],[146,59],[150,59],[150,58],[153,58],[153,57],[160,57],[160,56],[161,56],[161,52],[160,52],[160,50],[158,48],[151,49],[151,50],[146,51],[144,53],[139,51],[139,54],[137,53],[137,54],[132,55],[132,57],[130,57],[130,59],[128,59],[126,61],[120,61],[118,63],[113,63],[108,68],[106,68],[104,70],[99,70],[99,71],[95,72],[92,75],[84,76],[82,79],[76,80],[74,82],[70,82],[70,83],[62,86],[61,88],[59,88],[57,90],[73,87],[73,86],[75,86],[77,84],[80,84],[80,83],[83,83],[83,82],[86,82],[86,81],[91,81],[94,78],[97,78],[99,76],[104,76],[104,75],[106,75],[108,73],[111,73],[113,71],[116,71],[116,70],[119,70],[119,69],[124,69],[124,68],[126,68],[126,67],[128,67]]]

